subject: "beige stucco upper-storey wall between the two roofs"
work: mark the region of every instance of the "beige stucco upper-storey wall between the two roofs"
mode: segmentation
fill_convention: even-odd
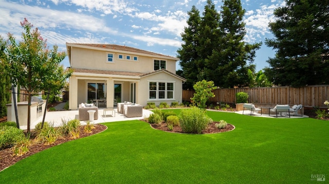
[[[111,70],[126,72],[142,72],[149,73],[154,71],[154,59],[166,60],[166,69],[170,72],[176,72],[176,60],[161,59],[157,57],[147,57],[129,54],[132,58],[138,57],[138,62],[134,60],[119,59],[119,53],[114,54],[114,62],[107,62],[107,53],[100,50],[84,49],[72,47],[71,51],[71,67],[95,70]],[[122,54],[127,55],[127,54]]]

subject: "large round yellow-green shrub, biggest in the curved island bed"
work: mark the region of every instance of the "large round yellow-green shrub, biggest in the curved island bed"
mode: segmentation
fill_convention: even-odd
[[[186,133],[201,133],[211,121],[212,119],[206,115],[206,112],[197,107],[182,109],[179,115],[180,127]]]

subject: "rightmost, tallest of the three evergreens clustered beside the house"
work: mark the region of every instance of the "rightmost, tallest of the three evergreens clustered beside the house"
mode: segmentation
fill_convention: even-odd
[[[255,50],[260,48],[261,43],[244,42],[246,30],[242,20],[245,10],[241,1],[225,0],[223,3],[220,22],[222,47],[206,60],[206,73],[216,86],[246,86],[249,83],[247,61],[253,62]]]

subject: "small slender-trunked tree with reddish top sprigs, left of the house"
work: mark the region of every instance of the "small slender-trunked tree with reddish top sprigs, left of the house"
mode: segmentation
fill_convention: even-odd
[[[66,54],[57,52],[57,46],[49,50],[38,28],[31,30],[33,26],[26,18],[21,26],[25,30],[22,41],[17,44],[15,37],[8,33],[7,46],[2,50],[2,55],[7,62],[5,66],[11,83],[14,86],[20,84],[28,93],[27,131],[30,132],[31,96],[62,83],[65,74],[59,63]]]

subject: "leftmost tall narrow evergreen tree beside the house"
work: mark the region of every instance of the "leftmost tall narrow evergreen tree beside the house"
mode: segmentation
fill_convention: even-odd
[[[191,11],[188,12],[189,19],[187,21],[188,27],[184,28],[181,33],[184,44],[177,50],[177,57],[180,58],[180,66],[182,68],[181,75],[187,79],[184,85],[185,89],[193,89],[195,81],[197,81],[198,68],[195,60],[199,58],[196,48],[199,46],[198,30],[201,21],[199,10],[192,6]]]

